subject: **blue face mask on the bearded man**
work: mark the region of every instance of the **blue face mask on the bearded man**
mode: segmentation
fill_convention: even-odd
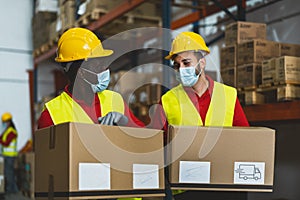
[[[176,79],[179,80],[183,86],[192,87],[197,83],[201,72],[202,70],[197,75],[194,66],[179,68],[179,72],[176,74]]]

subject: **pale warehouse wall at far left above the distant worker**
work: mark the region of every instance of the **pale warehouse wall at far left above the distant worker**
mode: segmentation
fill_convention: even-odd
[[[19,131],[18,149],[31,138],[29,82],[33,67],[31,17],[33,0],[0,0],[0,113],[9,111]]]

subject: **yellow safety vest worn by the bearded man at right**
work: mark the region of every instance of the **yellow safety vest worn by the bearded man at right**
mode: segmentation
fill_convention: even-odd
[[[232,126],[236,97],[235,88],[214,82],[205,126]],[[169,124],[203,126],[198,110],[182,85],[176,86],[163,95],[162,106]]]

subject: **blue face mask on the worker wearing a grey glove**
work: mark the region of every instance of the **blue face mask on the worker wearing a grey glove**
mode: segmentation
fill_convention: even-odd
[[[84,70],[86,70],[86,69],[84,69]],[[87,71],[89,71],[89,70],[87,70]],[[92,71],[89,71],[89,72],[96,74],[95,72],[92,72]],[[96,75],[97,75],[97,80],[98,80],[97,84],[93,84],[93,83],[89,82],[88,80],[84,79],[87,83],[89,83],[91,85],[91,88],[94,93],[102,92],[103,90],[106,90],[106,88],[108,87],[109,82],[110,82],[109,69],[107,69],[99,74],[96,74]]]

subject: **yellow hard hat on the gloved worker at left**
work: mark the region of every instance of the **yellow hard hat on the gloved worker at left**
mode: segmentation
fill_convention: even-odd
[[[58,40],[56,62],[69,62],[88,58],[109,56],[112,50],[103,49],[101,41],[90,30],[71,28]]]

